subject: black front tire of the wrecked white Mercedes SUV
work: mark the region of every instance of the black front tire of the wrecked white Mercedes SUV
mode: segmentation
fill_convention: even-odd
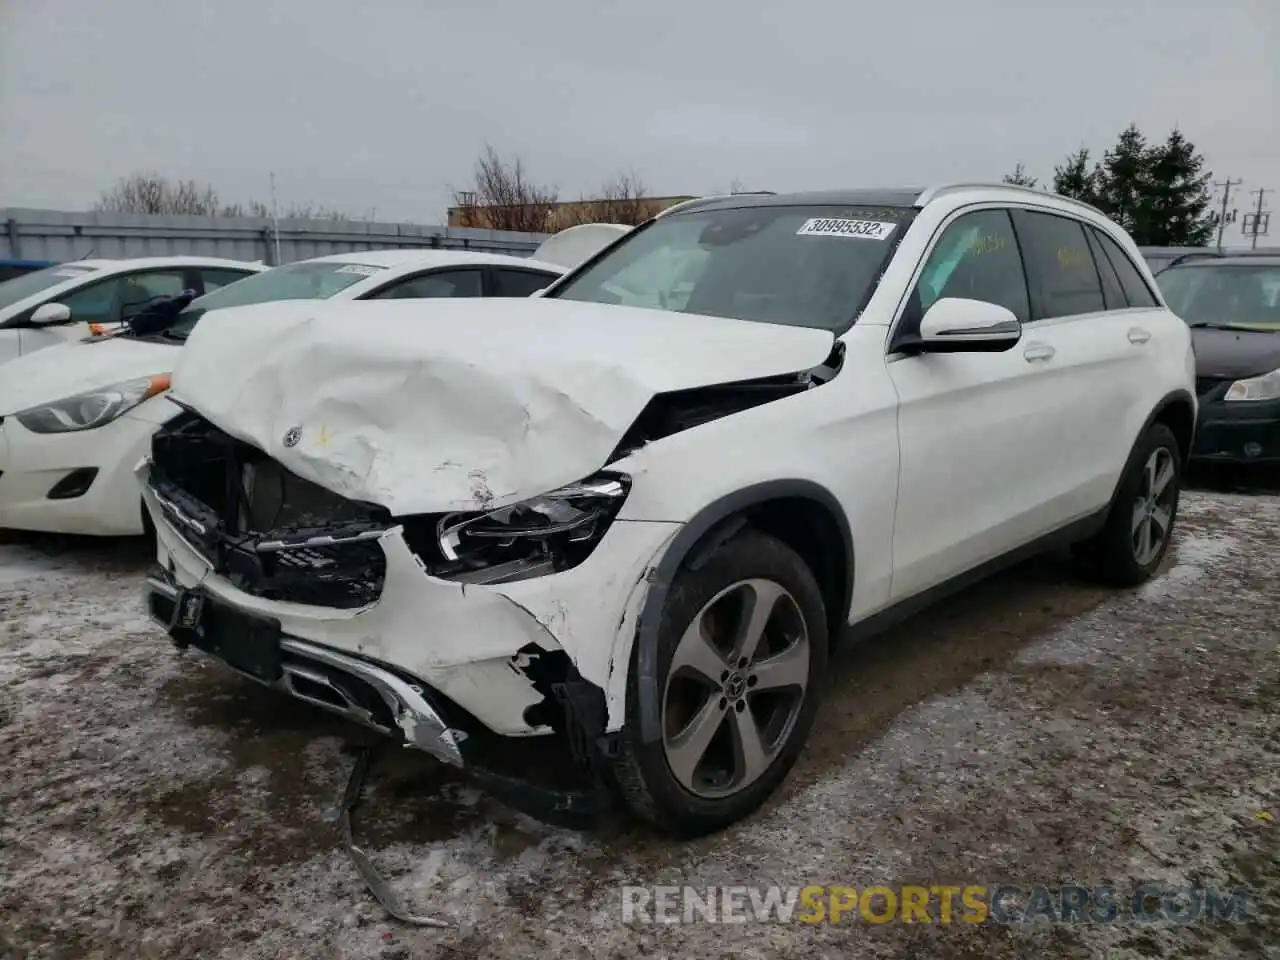
[[[749,632],[742,626],[750,622],[758,598],[772,600],[773,612],[755,659],[739,668],[741,658],[731,664],[728,648],[733,634]],[[681,644],[695,618],[721,640],[718,649]],[[636,652],[631,655],[626,724],[613,771],[616,788],[631,810],[667,833],[692,837],[727,827],[760,806],[787,776],[809,736],[827,646],[818,582],[781,540],[748,527],[698,570],[682,568],[671,585],[658,628],[663,735],[652,744],[639,739]],[[709,649],[721,659],[699,660]],[[691,666],[695,660],[721,676],[708,678],[707,671]],[[687,726],[682,722],[686,717]],[[707,719],[707,726],[692,723],[695,717]],[[759,735],[760,753],[741,749],[750,740],[748,724]],[[699,741],[709,742],[701,753],[690,742],[692,737],[677,736],[710,727],[716,733]],[[690,764],[695,754],[701,763]],[[745,763],[748,755],[756,762]]]

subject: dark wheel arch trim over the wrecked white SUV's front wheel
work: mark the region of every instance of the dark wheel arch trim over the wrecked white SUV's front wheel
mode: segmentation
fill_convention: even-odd
[[[822,521],[831,521],[823,525]],[[685,567],[696,570],[744,526],[777,536],[809,564],[827,605],[828,640],[847,617],[854,590],[854,538],[840,500],[813,480],[768,480],[709,503],[663,553],[652,576],[635,632],[640,740],[662,736],[658,717],[658,630],[667,595]]]

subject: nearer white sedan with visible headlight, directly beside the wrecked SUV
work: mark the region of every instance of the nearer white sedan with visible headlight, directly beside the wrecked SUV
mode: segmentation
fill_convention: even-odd
[[[200,297],[152,335],[99,337],[19,357],[0,376],[0,527],[145,532],[133,467],[155,429],[179,411],[166,397],[169,371],[210,310],[283,300],[527,297],[562,273],[553,262],[490,253],[338,253]]]

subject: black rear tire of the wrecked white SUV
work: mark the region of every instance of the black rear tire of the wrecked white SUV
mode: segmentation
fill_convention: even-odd
[[[1157,470],[1160,476],[1171,470],[1155,500],[1149,497],[1152,475],[1148,468]],[[1183,462],[1178,439],[1164,424],[1152,424],[1129,454],[1106,526],[1093,539],[1075,547],[1075,556],[1094,579],[1111,586],[1137,586],[1151,579],[1172,540],[1181,480]],[[1151,509],[1152,502],[1160,513]],[[1152,538],[1148,549],[1142,549],[1138,520],[1140,509],[1147,509],[1149,517],[1149,521],[1144,521],[1149,524]],[[1155,540],[1160,517],[1166,517],[1167,525],[1157,544]]]

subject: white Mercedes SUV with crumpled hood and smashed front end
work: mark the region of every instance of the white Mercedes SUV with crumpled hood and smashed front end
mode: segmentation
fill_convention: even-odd
[[[179,646],[684,835],[785,778],[847,627],[1052,545],[1149,577],[1196,422],[1132,239],[983,184],[690,201],[529,300],[227,310],[173,397]],[[539,736],[581,785],[500,769]]]

